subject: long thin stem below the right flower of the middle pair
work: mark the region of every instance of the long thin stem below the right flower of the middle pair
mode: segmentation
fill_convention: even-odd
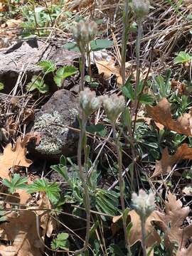
[[[124,213],[125,206],[124,206],[124,184],[123,184],[123,176],[122,176],[122,153],[121,153],[121,149],[119,146],[119,139],[117,138],[115,122],[112,122],[112,133],[113,133],[113,138],[114,138],[114,142],[115,142],[115,146],[116,146],[116,150],[117,150],[120,201],[121,201],[121,206],[122,206],[122,212]],[[123,221],[124,239],[125,239],[125,244],[127,247],[127,252],[128,252],[128,255],[131,256],[132,252],[131,252],[129,242],[128,242],[128,237],[127,237],[127,228],[126,228],[127,223],[126,223],[124,216],[122,217],[122,221]]]

